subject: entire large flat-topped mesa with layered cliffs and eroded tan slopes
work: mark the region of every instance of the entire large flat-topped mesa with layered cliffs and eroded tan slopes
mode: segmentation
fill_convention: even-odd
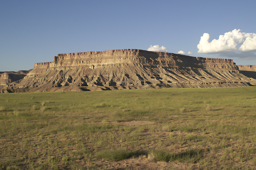
[[[36,63],[5,88],[48,87],[229,87],[256,85],[231,59],[190,57],[137,49],[58,54]]]

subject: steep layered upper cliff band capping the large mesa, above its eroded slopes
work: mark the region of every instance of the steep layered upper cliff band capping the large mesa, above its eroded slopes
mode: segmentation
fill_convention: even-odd
[[[228,68],[238,70],[232,59],[220,58],[202,58],[191,57],[181,54],[168,52],[154,52],[138,49],[122,49],[122,50],[107,50],[107,51],[90,51],[58,54],[54,57],[54,62],[50,63],[50,67],[70,67],[70,66],[100,66],[107,64],[121,63],[141,63],[154,64],[164,66],[180,66],[199,64],[212,68]],[[220,66],[226,65],[226,66]],[[228,68],[229,69],[229,68]]]

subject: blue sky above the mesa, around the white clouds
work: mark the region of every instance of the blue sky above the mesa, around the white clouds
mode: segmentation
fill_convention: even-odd
[[[196,57],[231,58],[238,65],[256,65],[253,41],[252,48],[247,48],[249,51],[241,52],[239,47],[211,49],[215,48],[211,44],[213,39],[218,40],[220,35],[234,29],[243,33],[243,41],[249,36],[245,33],[251,33],[253,38],[255,6],[256,1],[228,0],[3,0],[0,2],[0,71],[28,70],[34,63],[53,61],[59,53],[148,50],[150,45],[164,46],[173,53],[190,51]],[[198,53],[197,45],[204,33],[210,35],[209,43],[206,41],[202,45],[203,53]],[[229,35],[232,39],[235,34]],[[223,41],[215,43],[220,45]]]

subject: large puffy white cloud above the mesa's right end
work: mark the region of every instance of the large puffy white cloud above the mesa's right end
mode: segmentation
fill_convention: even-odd
[[[256,51],[256,34],[240,32],[240,29],[234,29],[220,35],[219,39],[213,39],[209,42],[210,35],[204,33],[197,45],[198,53],[216,54],[227,52],[255,52]]]

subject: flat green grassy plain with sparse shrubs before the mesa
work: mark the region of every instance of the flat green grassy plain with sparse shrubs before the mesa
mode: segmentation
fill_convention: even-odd
[[[256,169],[256,87],[0,95],[0,169]]]

